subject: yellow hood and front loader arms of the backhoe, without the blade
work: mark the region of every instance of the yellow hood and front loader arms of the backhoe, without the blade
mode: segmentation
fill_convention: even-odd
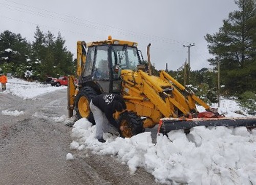
[[[160,118],[178,118],[196,113],[196,102],[205,109],[209,106],[179,84],[165,71],[160,71],[160,77],[148,75],[142,70],[122,70],[122,91],[127,110],[145,117],[144,127],[153,127]],[[182,94],[177,88],[186,93]]]

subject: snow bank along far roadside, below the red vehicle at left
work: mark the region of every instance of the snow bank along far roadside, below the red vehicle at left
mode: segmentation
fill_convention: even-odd
[[[7,90],[3,93],[11,93],[23,99],[32,99],[38,95],[53,92],[59,89],[67,89],[66,86],[52,87],[37,82],[27,82],[19,78],[8,78]]]

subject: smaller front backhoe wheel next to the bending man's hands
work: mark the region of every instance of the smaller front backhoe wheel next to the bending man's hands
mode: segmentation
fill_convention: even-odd
[[[120,136],[123,138],[131,138],[137,134],[144,132],[143,121],[140,117],[133,112],[124,112],[119,116],[118,123],[120,126],[125,127],[124,130],[120,130]]]

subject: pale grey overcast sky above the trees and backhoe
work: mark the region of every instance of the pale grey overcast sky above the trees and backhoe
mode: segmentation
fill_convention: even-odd
[[[76,41],[105,40],[108,35],[138,42],[157,69],[176,70],[188,59],[192,70],[209,67],[204,36],[218,32],[228,13],[238,9],[233,0],[0,0],[0,32],[9,30],[34,41],[36,25],[44,33],[58,32],[76,58]]]

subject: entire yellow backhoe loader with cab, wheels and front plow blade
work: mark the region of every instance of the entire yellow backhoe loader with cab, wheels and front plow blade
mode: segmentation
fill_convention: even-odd
[[[253,128],[256,118],[229,119],[211,109],[193,92],[186,90],[165,71],[152,75],[150,44],[147,46],[147,63],[143,63],[136,42],[112,39],[86,43],[77,42],[77,84],[69,76],[68,110],[77,118],[94,123],[89,103],[101,93],[122,95],[127,109],[114,115],[126,129],[122,137],[142,133],[144,128],[159,124],[159,133],[205,126],[246,126]],[[196,103],[205,108],[199,113]]]

